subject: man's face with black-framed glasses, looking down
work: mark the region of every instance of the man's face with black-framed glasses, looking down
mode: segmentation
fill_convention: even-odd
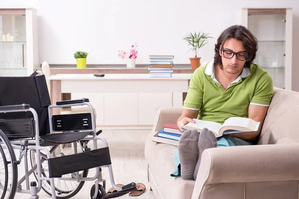
[[[234,53],[238,54],[234,55]],[[219,54],[224,71],[232,75],[242,72],[246,62],[247,52],[241,41],[234,38],[227,39],[224,45],[220,46]]]

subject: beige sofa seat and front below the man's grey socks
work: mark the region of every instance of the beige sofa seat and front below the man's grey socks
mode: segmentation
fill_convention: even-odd
[[[170,174],[176,170],[174,152],[176,146],[152,141],[154,132],[147,136],[145,156],[149,164],[151,178],[163,199],[191,199],[195,181],[184,181]]]

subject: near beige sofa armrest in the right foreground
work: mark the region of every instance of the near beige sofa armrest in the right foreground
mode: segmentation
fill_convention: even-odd
[[[234,146],[202,154],[192,199],[204,185],[299,180],[299,144]]]

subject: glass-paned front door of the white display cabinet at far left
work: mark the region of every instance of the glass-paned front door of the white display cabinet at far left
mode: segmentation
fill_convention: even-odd
[[[0,9],[0,76],[27,76],[31,41],[26,41],[26,30],[30,29],[26,18],[25,9]]]

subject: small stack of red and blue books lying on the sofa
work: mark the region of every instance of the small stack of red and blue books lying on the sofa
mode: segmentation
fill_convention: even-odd
[[[182,135],[176,124],[165,123],[162,130],[158,131],[152,138],[152,141],[171,145],[178,145],[178,141]]]

